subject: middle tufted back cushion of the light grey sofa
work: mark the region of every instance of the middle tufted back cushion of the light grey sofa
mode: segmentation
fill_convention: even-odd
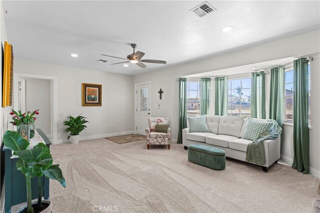
[[[231,135],[239,138],[244,118],[233,116],[221,116],[219,120],[219,135]]]

